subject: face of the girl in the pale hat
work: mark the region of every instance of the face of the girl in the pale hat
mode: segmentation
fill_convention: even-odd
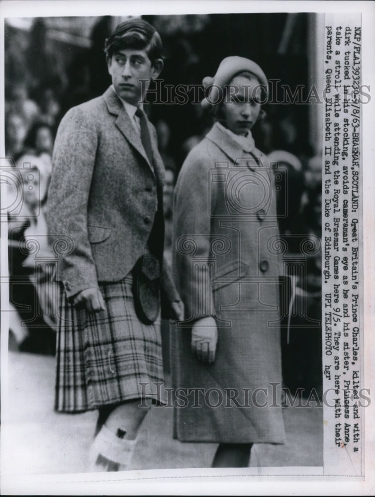
[[[247,135],[261,110],[261,87],[255,77],[235,76],[229,83],[222,111],[228,129],[236,135]]]

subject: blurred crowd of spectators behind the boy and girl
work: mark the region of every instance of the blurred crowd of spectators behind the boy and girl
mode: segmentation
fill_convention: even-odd
[[[229,54],[220,55],[220,47],[214,43],[212,33],[218,29],[217,23],[225,22],[224,19],[214,19],[209,15],[181,17],[147,18],[162,34],[167,55],[162,76],[166,83],[199,84],[202,77],[210,75],[210,68],[217,67],[216,59],[234,53],[249,56],[235,52],[235,45],[227,47]],[[238,22],[242,21],[238,19]],[[21,211],[16,216],[10,212],[8,216],[10,302],[20,317],[14,318],[16,314],[11,313],[10,346],[18,350],[54,353],[55,322],[50,312],[56,291],[53,271],[51,265],[45,263],[38,272],[35,250],[30,241],[38,241],[39,259],[41,255],[45,255],[46,260],[52,256],[44,209],[52,173],[54,137],[61,118],[69,108],[102,94],[110,84],[103,53],[104,39],[110,30],[111,18],[99,18],[92,27],[90,48],[74,50],[69,47],[70,56],[63,57],[53,49],[55,45],[51,45],[43,18],[35,18],[27,33],[11,26],[5,29],[5,155],[9,167],[19,171],[19,184],[24,188]],[[301,37],[302,34],[297,33],[296,36]],[[205,40],[204,46],[202,40]],[[210,53],[208,42],[211,43],[212,60],[207,62],[205,54]],[[298,60],[302,55],[295,53],[294,57]],[[254,55],[250,54],[250,57],[256,60]],[[264,67],[263,61],[259,62]],[[282,65],[282,61],[278,64]],[[276,66],[275,72],[278,64],[272,66]],[[211,123],[202,116],[200,105],[150,104],[146,112],[156,127],[160,153],[167,170],[165,246],[167,258],[170,258],[174,184],[187,153],[199,143]],[[311,239],[321,236],[321,156],[314,156],[303,112],[292,104],[269,105],[266,108],[267,118],[254,130],[257,147],[269,155],[271,162],[287,170],[287,176],[282,179],[282,186],[288,192],[287,215],[280,219],[279,224],[281,236],[288,241],[289,252],[298,252],[298,235]],[[293,241],[297,245],[293,245]],[[320,320],[319,252],[307,258],[307,271],[297,283],[299,293],[294,298],[305,299],[305,314]],[[21,321],[27,326],[20,326]],[[288,331],[287,339],[284,337],[284,347],[289,347],[285,353],[292,354],[293,347],[298,350],[296,360],[300,367],[296,368],[294,362],[289,372],[285,366],[284,374],[289,374],[291,383],[304,382],[305,385],[310,383],[307,386],[315,386],[321,376],[321,337],[316,332],[319,327],[311,326],[309,330],[315,330],[315,334],[309,334],[310,338],[306,339],[307,334],[300,333],[298,329],[298,326],[306,326],[306,318],[295,316],[291,323],[294,328],[292,326]],[[286,341],[291,345],[285,345]],[[307,379],[304,372],[306,361],[315,364]],[[296,377],[296,370],[302,377]]]

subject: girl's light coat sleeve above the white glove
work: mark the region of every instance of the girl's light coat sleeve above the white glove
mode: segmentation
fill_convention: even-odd
[[[200,152],[204,152],[201,146],[187,157],[174,198],[174,276],[184,303],[185,319],[191,322],[215,313],[208,259],[214,242],[211,215],[217,187],[210,182],[213,160]]]

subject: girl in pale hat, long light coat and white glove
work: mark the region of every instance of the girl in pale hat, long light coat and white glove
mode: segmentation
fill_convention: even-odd
[[[246,467],[253,443],[285,440],[275,178],[251,135],[268,83],[242,57],[224,59],[203,83],[213,83],[202,105],[216,122],[175,190],[174,271],[185,305],[171,332],[175,436],[218,443],[214,467]]]

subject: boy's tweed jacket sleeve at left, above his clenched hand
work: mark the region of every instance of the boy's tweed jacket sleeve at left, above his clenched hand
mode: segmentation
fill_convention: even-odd
[[[56,136],[47,200],[48,232],[68,298],[98,286],[87,227],[97,141],[95,121],[79,107],[69,110]],[[61,237],[68,240],[63,248],[58,243]]]

